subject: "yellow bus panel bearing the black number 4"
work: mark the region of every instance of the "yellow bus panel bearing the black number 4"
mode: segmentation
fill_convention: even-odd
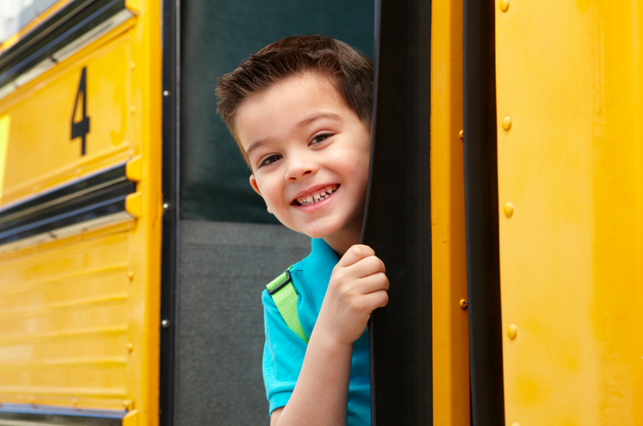
[[[0,205],[133,156],[140,118],[133,100],[131,35],[106,41],[0,100]],[[83,104],[89,133],[72,139],[72,120],[83,121]]]

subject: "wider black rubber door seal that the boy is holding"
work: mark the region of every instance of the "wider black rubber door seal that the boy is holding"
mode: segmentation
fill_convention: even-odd
[[[431,2],[376,0],[375,115],[363,242],[386,265],[389,304],[369,323],[372,424],[433,422]]]

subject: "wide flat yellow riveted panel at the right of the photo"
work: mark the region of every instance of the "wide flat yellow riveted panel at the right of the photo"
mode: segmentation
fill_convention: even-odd
[[[643,424],[641,24],[636,1],[497,8],[507,424]]]

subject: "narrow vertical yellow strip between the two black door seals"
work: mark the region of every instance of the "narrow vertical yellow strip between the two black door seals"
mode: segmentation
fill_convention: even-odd
[[[462,170],[462,1],[433,2],[431,232],[433,424],[469,424],[469,331]],[[465,136],[466,137],[466,136]]]

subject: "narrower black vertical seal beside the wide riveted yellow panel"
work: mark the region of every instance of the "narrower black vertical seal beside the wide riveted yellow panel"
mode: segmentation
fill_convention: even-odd
[[[464,218],[471,424],[505,424],[494,2],[464,0]]]

